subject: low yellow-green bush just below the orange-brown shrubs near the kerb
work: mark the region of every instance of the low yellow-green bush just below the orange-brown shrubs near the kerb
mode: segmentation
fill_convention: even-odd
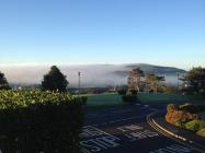
[[[185,123],[185,129],[191,131],[200,131],[205,128],[205,121],[204,120],[192,120]]]

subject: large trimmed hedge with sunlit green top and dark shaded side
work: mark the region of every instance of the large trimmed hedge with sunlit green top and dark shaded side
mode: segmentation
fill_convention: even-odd
[[[66,93],[0,92],[0,149],[4,153],[76,153],[82,98]]]

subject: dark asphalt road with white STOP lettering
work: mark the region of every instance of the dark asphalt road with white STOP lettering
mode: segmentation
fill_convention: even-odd
[[[132,105],[89,111],[80,146],[83,153],[198,153],[155,130],[147,115],[162,105]]]

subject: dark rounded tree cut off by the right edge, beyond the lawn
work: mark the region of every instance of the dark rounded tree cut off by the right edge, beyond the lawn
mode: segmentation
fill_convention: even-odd
[[[205,95],[205,68],[193,68],[181,80],[184,81],[186,90]]]

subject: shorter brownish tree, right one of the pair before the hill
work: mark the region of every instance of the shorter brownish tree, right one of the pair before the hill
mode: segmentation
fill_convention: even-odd
[[[161,82],[164,81],[164,76],[158,76],[156,74],[147,74],[145,82],[146,87],[153,93],[157,93],[160,87],[163,87]]]

